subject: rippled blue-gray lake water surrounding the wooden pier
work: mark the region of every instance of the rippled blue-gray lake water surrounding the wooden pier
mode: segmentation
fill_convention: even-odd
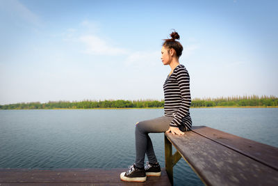
[[[190,113],[193,125],[278,147],[278,108]],[[1,110],[0,168],[127,168],[136,156],[135,123],[160,116],[163,109]],[[165,166],[163,133],[150,137],[158,162]],[[174,166],[174,185],[202,182],[181,159]]]

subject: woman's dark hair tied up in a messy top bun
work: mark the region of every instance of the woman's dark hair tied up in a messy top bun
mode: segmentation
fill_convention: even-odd
[[[181,56],[183,47],[181,43],[177,40],[179,40],[179,33],[177,33],[175,30],[170,34],[172,39],[165,39],[163,42],[163,47],[167,47],[168,49],[174,49],[177,53],[177,56]]]

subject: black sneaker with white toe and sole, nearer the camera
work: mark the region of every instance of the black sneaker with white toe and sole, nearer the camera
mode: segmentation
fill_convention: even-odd
[[[121,180],[127,182],[145,182],[147,180],[145,169],[140,170],[135,164],[129,166],[129,170],[122,172]]]

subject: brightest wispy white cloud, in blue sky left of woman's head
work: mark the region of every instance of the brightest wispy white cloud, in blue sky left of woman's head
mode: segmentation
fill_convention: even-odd
[[[97,55],[120,55],[126,54],[126,49],[113,47],[109,45],[105,40],[93,36],[86,35],[81,36],[79,40],[86,45],[86,49],[83,51],[85,54],[97,54]]]

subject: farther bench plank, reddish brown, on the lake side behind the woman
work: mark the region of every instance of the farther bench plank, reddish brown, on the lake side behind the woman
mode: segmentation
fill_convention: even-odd
[[[278,148],[274,146],[261,144],[257,141],[238,137],[234,134],[222,132],[211,127],[193,127],[193,131],[278,171]]]

